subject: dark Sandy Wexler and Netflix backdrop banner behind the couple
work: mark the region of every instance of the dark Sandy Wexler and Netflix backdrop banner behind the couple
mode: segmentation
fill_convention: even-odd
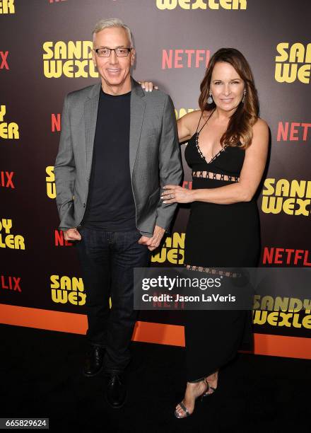
[[[310,13],[306,0],[0,0],[0,322],[86,332],[76,250],[57,229],[54,161],[64,96],[99,80],[91,31],[100,18],[129,25],[134,78],[170,93],[177,118],[198,108],[213,52],[245,55],[271,130],[260,265],[310,267]],[[184,186],[192,187],[185,162]],[[153,266],[183,265],[188,214],[180,207]],[[311,358],[308,300],[290,301],[281,311],[262,299],[255,353]],[[183,345],[182,321],[169,305],[142,311],[134,340]]]

